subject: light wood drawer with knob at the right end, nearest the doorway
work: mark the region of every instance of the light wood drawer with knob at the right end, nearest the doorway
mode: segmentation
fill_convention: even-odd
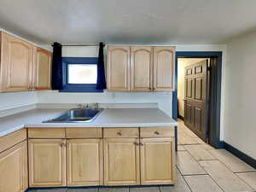
[[[142,127],[141,137],[174,137],[173,127]]]

